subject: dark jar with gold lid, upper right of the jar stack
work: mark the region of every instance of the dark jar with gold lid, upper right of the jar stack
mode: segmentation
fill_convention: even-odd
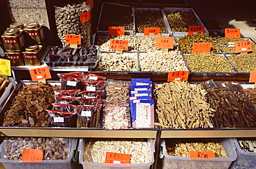
[[[44,30],[38,22],[27,23],[24,32],[28,33],[37,43],[44,43]]]

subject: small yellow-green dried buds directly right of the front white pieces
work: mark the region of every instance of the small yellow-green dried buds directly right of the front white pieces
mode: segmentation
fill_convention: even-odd
[[[220,54],[185,54],[185,60],[191,72],[235,72],[228,59]]]

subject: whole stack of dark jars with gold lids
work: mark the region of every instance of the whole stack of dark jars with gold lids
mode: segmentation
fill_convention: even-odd
[[[26,45],[26,34],[35,43]],[[6,59],[11,66],[40,66],[42,44],[44,43],[44,30],[38,22],[10,23],[9,28],[1,35],[3,46],[6,49]]]

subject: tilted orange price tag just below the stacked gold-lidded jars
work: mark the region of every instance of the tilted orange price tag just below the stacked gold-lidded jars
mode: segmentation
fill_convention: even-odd
[[[33,81],[38,81],[42,79],[51,79],[51,73],[47,66],[42,68],[30,69],[29,72],[30,72],[30,77]]]

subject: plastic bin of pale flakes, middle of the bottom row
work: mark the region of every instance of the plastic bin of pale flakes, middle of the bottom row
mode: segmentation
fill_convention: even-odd
[[[154,143],[153,139],[148,139],[147,142],[151,147],[151,161],[149,163],[89,163],[84,162],[84,143],[85,139],[80,139],[79,141],[79,161],[83,168],[90,169],[104,169],[104,168],[130,168],[130,169],[147,169],[150,168],[152,163],[154,163]]]

